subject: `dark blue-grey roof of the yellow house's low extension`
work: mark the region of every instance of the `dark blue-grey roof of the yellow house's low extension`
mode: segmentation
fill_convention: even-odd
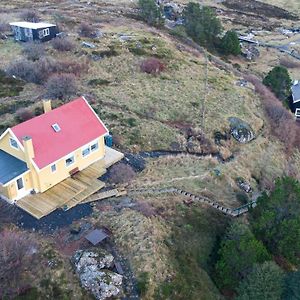
[[[28,170],[24,161],[0,150],[0,183],[5,184]]]

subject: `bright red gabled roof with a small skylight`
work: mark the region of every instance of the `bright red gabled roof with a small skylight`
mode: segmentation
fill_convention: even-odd
[[[52,125],[58,124],[59,132]],[[81,97],[12,128],[23,143],[30,136],[34,162],[41,169],[108,133],[87,101]]]

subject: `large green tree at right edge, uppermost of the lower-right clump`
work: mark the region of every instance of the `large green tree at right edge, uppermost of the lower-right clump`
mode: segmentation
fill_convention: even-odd
[[[256,236],[268,249],[300,265],[300,183],[284,177],[257,200],[251,213]]]

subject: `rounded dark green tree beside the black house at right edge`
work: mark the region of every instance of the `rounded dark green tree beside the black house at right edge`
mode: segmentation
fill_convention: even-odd
[[[264,78],[263,84],[282,101],[291,95],[292,80],[285,67],[274,67]]]

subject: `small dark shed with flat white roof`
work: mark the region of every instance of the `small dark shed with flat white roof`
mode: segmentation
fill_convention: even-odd
[[[57,26],[50,23],[12,22],[11,26],[16,41],[46,42],[56,37]]]

